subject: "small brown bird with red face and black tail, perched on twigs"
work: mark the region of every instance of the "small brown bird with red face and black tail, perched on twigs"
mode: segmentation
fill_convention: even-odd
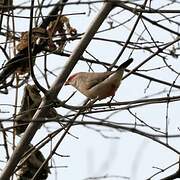
[[[133,58],[121,64],[116,71],[78,72],[71,75],[65,85],[71,85],[89,99],[102,100],[114,96],[121,84],[124,70]]]

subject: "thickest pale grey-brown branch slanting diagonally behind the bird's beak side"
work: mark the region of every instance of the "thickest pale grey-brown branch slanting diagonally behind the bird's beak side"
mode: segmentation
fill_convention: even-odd
[[[54,84],[49,90],[49,99],[48,97],[44,97],[42,103],[40,104],[39,110],[35,113],[32,122],[27,127],[21,141],[19,142],[18,146],[14,150],[12,156],[10,157],[9,161],[7,162],[4,170],[2,171],[0,180],[9,180],[10,176],[13,174],[15,167],[17,166],[18,162],[21,159],[22,154],[26,151],[27,145],[31,142],[32,138],[34,137],[36,131],[41,127],[42,123],[36,122],[38,117],[43,117],[44,113],[47,112],[47,108],[44,108],[46,105],[50,103],[51,100],[55,99],[61,90],[66,78],[76,65],[79,60],[79,57],[82,55],[88,44],[90,43],[91,39],[97,32],[100,25],[103,23],[104,19],[107,17],[109,12],[112,10],[112,4],[106,2],[102,7],[101,11],[92,22],[88,30],[86,31],[85,35],[75,48],[74,52],[69,58],[67,65],[65,66],[64,70],[61,72],[59,77],[55,80]]]

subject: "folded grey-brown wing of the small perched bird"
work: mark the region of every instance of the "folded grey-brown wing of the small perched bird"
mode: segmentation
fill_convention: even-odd
[[[111,71],[102,73],[86,73],[85,76],[83,75],[85,89],[91,89],[108,78],[112,73],[113,72]]]

